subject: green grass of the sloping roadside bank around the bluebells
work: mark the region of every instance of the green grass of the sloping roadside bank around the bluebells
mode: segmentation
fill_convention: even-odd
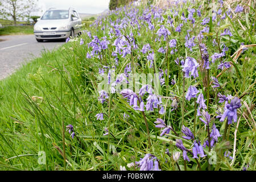
[[[180,16],[182,11],[187,13],[187,7],[179,7]],[[139,7],[139,12],[142,13],[143,7]],[[130,11],[129,11],[130,12]],[[208,15],[208,10],[202,10],[202,17],[196,18],[197,22]],[[230,61],[230,55],[240,47],[242,39],[245,44],[253,44],[255,40],[255,33],[253,30],[253,18],[255,13],[250,11],[247,16],[241,15],[240,19],[243,26],[247,27],[246,31],[238,29],[237,35],[233,34],[232,39],[227,37],[221,38],[220,46],[223,43],[229,48],[226,52],[225,61]],[[108,36],[108,26],[110,18],[113,20],[122,19],[123,12],[112,14],[102,20],[99,26],[88,27],[92,36],[97,35],[98,38]],[[164,15],[167,19],[167,15]],[[179,20],[175,19],[176,24]],[[234,21],[234,26],[239,24]],[[247,23],[246,23],[247,22]],[[166,105],[165,115],[158,114],[158,109],[154,112],[145,112],[145,117],[141,111],[134,110],[125,98],[120,94],[111,94],[108,102],[101,104],[98,101],[97,86],[101,82],[98,74],[98,69],[105,66],[114,66],[115,60],[112,52],[115,47],[112,46],[114,40],[110,41],[109,49],[102,51],[102,59],[93,57],[86,58],[86,53],[92,51],[88,48],[87,43],[91,40],[87,34],[83,34],[80,38],[84,39],[85,44],[80,46],[80,38],[73,39],[73,42],[64,44],[58,50],[53,52],[44,52],[42,57],[35,59],[31,63],[24,65],[17,72],[10,77],[0,81],[0,169],[2,170],[118,170],[120,166],[139,161],[145,154],[151,153],[155,155],[162,167],[162,170],[177,170],[176,164],[171,155],[166,155],[166,149],[172,152],[182,152],[175,146],[175,139],[181,139],[181,121],[184,115],[184,125],[193,131],[194,127],[194,113],[195,105],[194,98],[191,101],[184,100],[182,102],[183,88],[187,92],[190,85],[197,86],[197,89],[204,94],[207,99],[207,93],[202,84],[204,78],[203,72],[199,71],[197,82],[193,78],[186,78],[184,80],[181,76],[181,68],[176,65],[174,60],[179,57],[180,60],[185,56],[195,57],[200,60],[200,50],[198,47],[193,48],[193,51],[184,47],[185,35],[189,24],[184,24],[183,31],[177,33],[172,31],[171,38],[177,39],[177,53],[175,55],[163,55],[158,52],[159,47],[166,46],[163,40],[159,43],[155,41],[156,31],[160,25],[155,23],[154,32],[148,31],[147,28],[142,27],[139,30],[142,36],[137,34],[137,28],[128,25],[123,28],[122,34],[127,35],[127,32],[134,31],[136,42],[138,43],[138,51],[134,51],[133,56],[128,54],[125,58],[118,56],[119,64],[117,71],[123,72],[127,63],[139,65],[138,73],[154,73],[154,69],[150,68],[150,64],[140,50],[149,43],[152,49],[155,50],[155,67],[170,71],[171,79],[175,79],[176,84],[171,85],[166,81],[160,88],[162,96],[172,96],[175,94],[177,109],[171,111],[172,100],[163,99],[163,104]],[[226,24],[225,24],[226,23]],[[199,23],[200,24],[200,23]],[[105,26],[105,28],[102,28]],[[110,25],[109,25],[110,26]],[[200,25],[199,25],[200,26]],[[234,30],[228,24],[228,20],[222,21],[220,27],[217,28],[216,22],[212,24],[212,28],[216,28],[222,32],[221,26],[230,27],[232,33]],[[196,27],[198,28],[198,27]],[[196,31],[197,29],[193,30]],[[201,28],[201,27],[200,27]],[[222,29],[221,29],[222,28]],[[105,30],[106,32],[104,32]],[[191,31],[191,35],[196,35]],[[198,30],[197,30],[198,31]],[[215,30],[214,30],[215,31]],[[129,34],[128,33],[128,34]],[[218,52],[218,47],[212,45],[212,39],[216,38],[216,34],[205,35],[208,39],[204,39],[209,55]],[[221,47],[223,48],[223,47]],[[255,104],[255,47],[248,48],[238,58],[236,67],[229,68],[226,72],[218,78],[221,88],[209,89],[209,107],[211,123],[214,122],[220,134],[223,135],[225,131],[225,122],[220,122],[216,119],[216,111],[224,111],[224,104],[218,103],[217,93],[231,94],[232,96],[240,97],[242,107],[238,109],[238,119],[240,118],[240,125],[237,129],[236,137],[236,159],[233,166],[230,166],[230,160],[224,158],[224,152],[229,150],[233,152],[234,132],[237,123],[233,123],[228,127],[227,139],[225,142],[221,138],[213,151],[217,155],[217,164],[210,166],[210,170],[241,170],[242,167],[249,165],[249,170],[255,170],[255,155],[256,155],[256,140],[255,140],[255,109],[249,113],[244,102],[253,108]],[[167,63],[165,62],[167,60]],[[210,76],[216,76],[221,71],[217,69],[216,63],[211,64]],[[166,78],[167,80],[167,78]],[[185,93],[184,93],[185,94]],[[144,96],[146,97],[146,96]],[[206,102],[205,102],[206,103]],[[184,107],[185,112],[181,112]],[[98,121],[96,114],[105,113],[104,120]],[[123,118],[123,114],[129,114],[128,119]],[[147,127],[144,123],[146,118],[148,128],[150,130],[151,147],[148,147]],[[170,135],[159,137],[160,130],[155,127],[156,118],[162,118],[167,125],[177,132],[179,137]],[[200,122],[199,117],[196,117],[196,138],[203,143],[207,139],[207,132],[203,122]],[[76,137],[72,139],[69,137],[68,131],[63,130],[63,127],[73,125]],[[103,136],[104,128],[108,127],[113,135]],[[65,137],[63,136],[63,131]],[[113,137],[114,136],[114,137]],[[64,137],[64,139],[63,139]],[[191,149],[192,140],[183,139],[184,146]],[[63,144],[65,143],[65,144]],[[65,157],[68,162],[64,162],[63,149],[65,147]],[[207,148],[208,149],[208,148]],[[38,163],[38,152],[46,152],[46,165]],[[205,150],[208,154],[208,150]],[[195,159],[189,155],[191,162],[187,163],[188,170],[198,169]],[[167,162],[166,162],[167,161]],[[200,158],[199,162],[201,168],[209,169],[207,159]],[[182,170],[184,170],[184,162],[182,153],[180,159],[177,161]]]

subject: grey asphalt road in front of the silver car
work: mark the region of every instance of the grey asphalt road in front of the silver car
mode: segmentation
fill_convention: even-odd
[[[42,51],[50,51],[64,43],[59,40],[38,43],[34,35],[0,36],[0,80],[11,75],[20,65],[39,57]]]

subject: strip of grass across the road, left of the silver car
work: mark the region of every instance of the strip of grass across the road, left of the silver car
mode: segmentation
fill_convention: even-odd
[[[0,28],[0,35],[33,34],[33,26],[7,26]]]

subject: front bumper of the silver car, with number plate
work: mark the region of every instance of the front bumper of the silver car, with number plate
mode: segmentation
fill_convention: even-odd
[[[34,31],[36,39],[67,39],[71,35],[71,30],[65,31]]]

